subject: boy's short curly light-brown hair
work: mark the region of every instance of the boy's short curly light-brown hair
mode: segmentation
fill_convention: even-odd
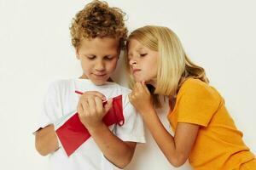
[[[73,47],[78,48],[82,38],[114,37],[119,38],[119,48],[124,49],[127,37],[124,16],[121,9],[110,8],[106,2],[88,3],[73,18],[70,27]]]

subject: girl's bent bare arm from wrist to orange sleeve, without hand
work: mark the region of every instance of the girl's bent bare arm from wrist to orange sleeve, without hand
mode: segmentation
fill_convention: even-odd
[[[190,150],[192,150],[195,144],[199,126],[178,122],[175,135],[172,137],[172,135],[166,131],[166,128],[160,122],[154,110],[142,114],[144,114],[144,122],[167,160],[174,167],[182,166],[188,159]]]

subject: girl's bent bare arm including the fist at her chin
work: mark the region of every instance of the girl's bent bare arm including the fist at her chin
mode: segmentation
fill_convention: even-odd
[[[129,95],[131,104],[141,113],[143,120],[154,140],[174,167],[180,167],[188,159],[190,150],[195,144],[199,126],[190,123],[177,123],[175,136],[172,137],[160,122],[151,99],[148,88],[142,82],[137,82]]]

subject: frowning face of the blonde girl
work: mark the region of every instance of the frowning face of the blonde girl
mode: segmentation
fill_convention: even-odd
[[[136,39],[128,45],[130,71],[136,82],[145,81],[155,86],[158,70],[159,52],[143,46]]]

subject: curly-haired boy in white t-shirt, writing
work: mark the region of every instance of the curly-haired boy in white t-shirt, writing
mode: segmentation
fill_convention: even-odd
[[[131,161],[136,143],[144,142],[142,119],[128,99],[131,91],[108,82],[120,50],[125,47],[127,29],[123,15],[119,8],[93,1],[73,19],[72,43],[83,75],[57,81],[49,87],[35,133],[36,149],[43,156],[50,155],[53,169],[123,168]],[[76,90],[83,94],[75,94]],[[111,98],[120,94],[125,124],[107,127],[102,117],[112,106]],[[102,100],[106,99],[107,104],[103,105]],[[68,157],[55,134],[55,122],[75,111],[79,112],[79,119],[91,137]]]

